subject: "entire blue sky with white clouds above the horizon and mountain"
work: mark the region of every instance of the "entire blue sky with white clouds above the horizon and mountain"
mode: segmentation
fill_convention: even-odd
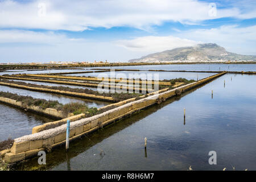
[[[256,55],[256,1],[0,0],[0,63],[122,62],[200,43]]]

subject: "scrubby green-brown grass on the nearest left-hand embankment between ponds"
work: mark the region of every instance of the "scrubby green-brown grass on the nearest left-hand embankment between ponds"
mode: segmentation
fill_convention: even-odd
[[[71,102],[69,104],[61,104],[58,101],[47,101],[44,99],[33,98],[31,96],[20,96],[9,92],[0,92],[0,97],[10,98],[12,100],[22,102],[27,106],[39,106],[41,109],[52,108],[63,111],[65,114],[73,113],[74,115],[85,113],[88,117],[97,113],[96,107],[88,107],[80,102]]]

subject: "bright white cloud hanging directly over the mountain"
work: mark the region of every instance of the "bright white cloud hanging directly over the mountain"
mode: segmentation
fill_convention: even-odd
[[[130,51],[143,53],[195,46],[199,43],[217,43],[230,52],[256,55],[256,26],[230,25],[210,29],[177,30],[172,36],[142,36],[131,40],[118,40],[115,43]]]

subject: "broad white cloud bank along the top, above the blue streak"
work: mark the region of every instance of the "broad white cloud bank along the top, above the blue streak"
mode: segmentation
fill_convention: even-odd
[[[38,15],[39,3],[45,3],[46,16]],[[255,17],[255,7],[250,7],[248,11],[241,11],[238,7],[217,7],[216,16],[209,16],[208,5],[207,2],[195,0],[5,0],[0,2],[0,27],[71,31],[114,26],[143,29],[167,20],[195,24],[201,20],[222,17]]]

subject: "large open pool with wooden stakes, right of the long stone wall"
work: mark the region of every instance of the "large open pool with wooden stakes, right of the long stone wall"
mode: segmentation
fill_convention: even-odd
[[[40,167],[187,170],[191,166],[195,170],[233,170],[233,166],[236,170],[256,170],[255,78],[226,74],[183,97],[72,142],[69,152],[60,147],[49,153],[47,165]],[[217,165],[209,165],[209,151],[216,151]],[[38,169],[37,160],[16,169]]]

